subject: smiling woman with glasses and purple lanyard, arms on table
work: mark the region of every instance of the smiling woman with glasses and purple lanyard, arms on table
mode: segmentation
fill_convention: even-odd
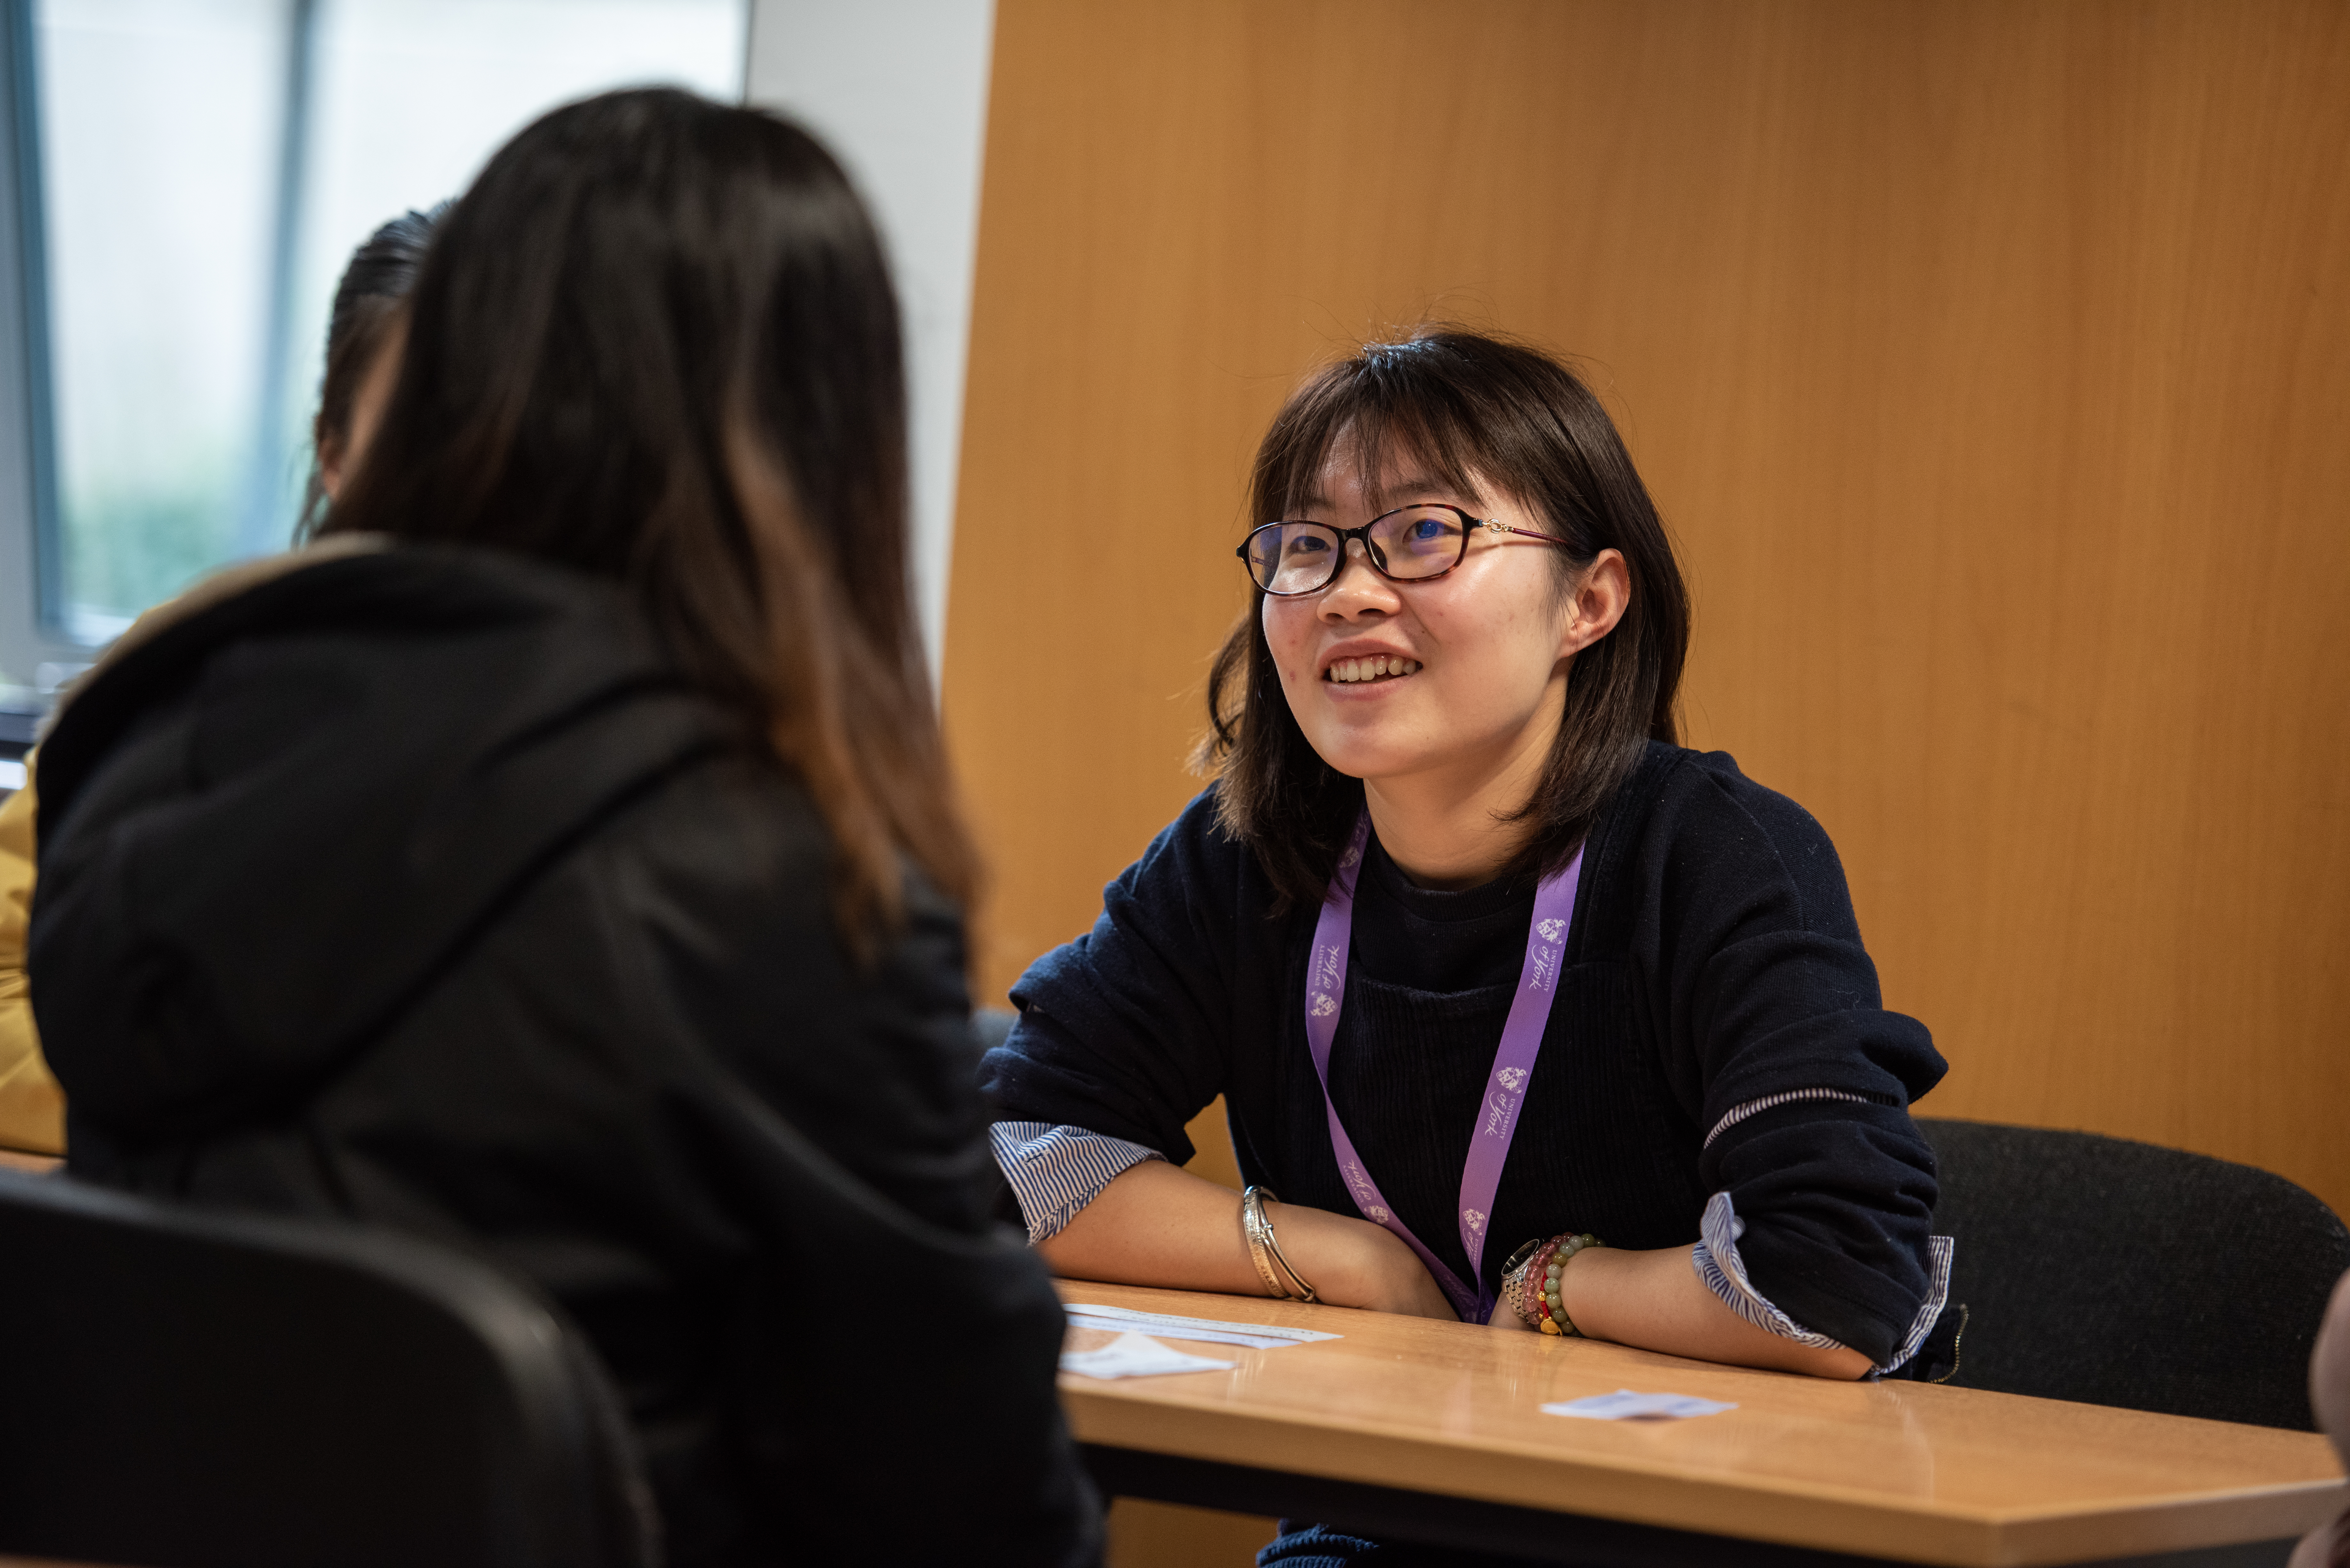
[[[987,1058],[1043,1258],[1946,1371],[1908,1117],[1943,1063],[1880,1009],[1819,823],[1678,745],[1687,595],[1598,400],[1518,343],[1377,343],[1290,397],[1253,501],[1215,783]],[[1243,1197],[1180,1171],[1215,1095]],[[1363,1549],[1309,1528],[1260,1561]]]

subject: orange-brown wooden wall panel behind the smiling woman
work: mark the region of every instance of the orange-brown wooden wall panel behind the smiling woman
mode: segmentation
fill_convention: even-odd
[[[2350,1208],[2350,7],[1001,0],[947,724],[985,976],[1196,788],[1295,376],[1582,357],[1694,743],[1845,853],[1932,1114]]]

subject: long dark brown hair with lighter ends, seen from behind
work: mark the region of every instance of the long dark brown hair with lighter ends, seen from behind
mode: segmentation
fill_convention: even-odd
[[[625,583],[806,783],[865,950],[900,856],[966,903],[975,877],[907,592],[905,442],[898,299],[832,155],[768,113],[613,92],[529,125],[439,221],[322,531]]]

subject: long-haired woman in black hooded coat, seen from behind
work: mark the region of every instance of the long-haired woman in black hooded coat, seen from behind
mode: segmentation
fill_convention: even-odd
[[[442,221],[317,543],[47,745],[70,1171],[536,1284],[679,1566],[1097,1554],[1060,1305],[987,1215],[905,505],[841,169],[606,94]],[[900,1338],[844,1342],[877,1291]]]

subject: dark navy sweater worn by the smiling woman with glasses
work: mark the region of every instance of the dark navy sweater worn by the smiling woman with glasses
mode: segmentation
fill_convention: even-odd
[[[1377,849],[1354,912],[1330,1098],[1396,1213],[1466,1276],[1462,1161],[1525,959],[1535,886],[1441,893]],[[1013,990],[982,1079],[999,1114],[1191,1157],[1217,1093],[1241,1173],[1354,1213],[1307,1053],[1318,910],[1274,893],[1213,788],[1109,884],[1088,936]],[[1892,1359],[1929,1293],[1934,1152],[1908,1103],[1943,1074],[1878,1006],[1828,835],[1716,752],[1650,745],[1584,856],[1565,973],[1495,1199],[1483,1279],[1532,1237],[1697,1239],[1713,1192],[1748,1276],[1805,1328]],[[1831,1088],[1706,1133],[1734,1107]]]

